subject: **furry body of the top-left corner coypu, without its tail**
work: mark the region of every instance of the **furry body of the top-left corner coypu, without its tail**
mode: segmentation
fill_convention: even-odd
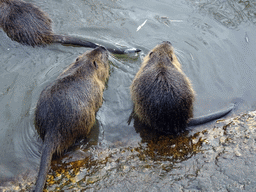
[[[0,26],[12,40],[37,46],[53,41],[51,19],[38,7],[21,0],[0,1]]]

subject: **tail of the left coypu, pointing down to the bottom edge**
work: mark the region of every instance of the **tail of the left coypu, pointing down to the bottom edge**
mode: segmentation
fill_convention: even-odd
[[[52,155],[55,152],[56,146],[53,143],[53,140],[45,135],[45,140],[43,143],[43,150],[41,155],[41,162],[38,177],[36,180],[35,192],[41,192],[44,189],[46,182],[46,177],[50,169]]]

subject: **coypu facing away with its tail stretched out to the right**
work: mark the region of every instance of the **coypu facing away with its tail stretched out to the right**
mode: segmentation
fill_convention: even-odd
[[[195,92],[170,42],[163,42],[149,52],[130,90],[134,108],[128,123],[136,117],[159,132],[178,133],[187,126],[220,118],[234,108],[232,105],[223,111],[192,119]]]

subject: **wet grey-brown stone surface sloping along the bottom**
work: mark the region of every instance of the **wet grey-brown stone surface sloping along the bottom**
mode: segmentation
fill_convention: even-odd
[[[254,191],[256,112],[133,147],[91,147],[52,162],[49,191]],[[145,137],[146,138],[146,137]],[[33,187],[12,183],[6,190]]]

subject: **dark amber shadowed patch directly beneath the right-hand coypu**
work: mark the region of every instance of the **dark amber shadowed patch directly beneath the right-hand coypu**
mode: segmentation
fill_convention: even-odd
[[[144,158],[150,158],[152,161],[169,161],[173,164],[185,161],[200,151],[203,142],[201,138],[197,138],[198,133],[193,135],[189,135],[188,131],[177,135],[159,133],[136,120],[134,126],[142,138],[142,146],[137,148],[137,151],[143,154]]]

